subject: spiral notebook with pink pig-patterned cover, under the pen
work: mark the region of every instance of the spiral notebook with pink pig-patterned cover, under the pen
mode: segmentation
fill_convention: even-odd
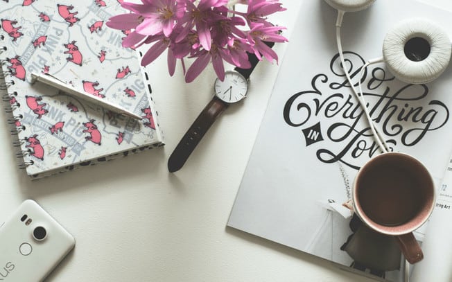
[[[17,134],[19,166],[33,179],[162,146],[140,53],[121,46],[130,30],[105,26],[119,1],[2,1],[1,88]],[[87,103],[42,83],[46,73],[142,117]]]

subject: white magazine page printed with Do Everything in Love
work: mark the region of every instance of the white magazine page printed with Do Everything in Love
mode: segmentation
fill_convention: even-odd
[[[342,209],[360,166],[381,151],[340,67],[337,14],[325,1],[304,1],[228,225],[401,281],[397,247],[387,238],[370,239],[362,222]],[[451,15],[410,0],[375,1],[367,10],[345,13],[342,46],[352,80],[358,82],[365,62],[381,58],[383,39],[395,24],[421,17],[452,26]],[[407,84],[383,62],[367,67],[362,77],[370,116],[390,150],[419,159],[436,184],[451,153],[451,77],[448,67],[433,82]],[[422,240],[423,230],[418,231]],[[369,248],[363,254],[356,245]],[[390,246],[390,258],[372,255],[380,246]],[[363,265],[358,256],[375,265]]]

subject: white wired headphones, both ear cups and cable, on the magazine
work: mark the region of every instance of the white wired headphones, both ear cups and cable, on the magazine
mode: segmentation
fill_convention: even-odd
[[[364,10],[375,0],[325,0],[331,7],[338,10],[336,21],[336,40],[342,66],[345,58],[340,39],[340,27],[345,12]],[[363,70],[377,62],[385,62],[389,71],[399,80],[412,84],[422,84],[435,80],[444,72],[451,58],[451,40],[447,33],[437,24],[427,19],[407,19],[394,26],[383,40],[383,57],[369,60]],[[361,107],[365,110],[367,121],[376,143],[382,152],[388,152],[389,146],[383,139],[383,134],[374,126],[362,95],[360,79],[359,91],[351,82],[350,74],[344,68],[345,76]]]

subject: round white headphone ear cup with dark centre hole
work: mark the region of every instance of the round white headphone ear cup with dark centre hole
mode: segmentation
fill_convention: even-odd
[[[431,82],[449,65],[451,40],[441,26],[428,19],[407,19],[385,36],[383,59],[403,82]]]

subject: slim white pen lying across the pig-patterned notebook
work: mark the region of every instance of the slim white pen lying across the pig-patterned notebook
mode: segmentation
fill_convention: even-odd
[[[55,87],[57,89],[60,89],[64,91],[64,93],[67,93],[71,96],[81,98],[83,100],[87,100],[88,102],[101,105],[105,109],[110,109],[112,112],[116,112],[117,114],[123,114],[124,116],[128,116],[130,118],[137,119],[141,121],[141,116],[134,114],[127,109],[124,109],[123,107],[119,105],[114,105],[107,100],[103,100],[102,98],[98,98],[97,96],[94,96],[92,94],[88,94],[83,91],[78,91],[77,89],[73,88],[71,85],[67,84],[66,82],[63,82],[62,80],[59,80],[58,78],[55,78],[54,76],[42,73],[31,73],[31,84],[33,85],[35,82],[42,82],[46,85],[50,85],[51,87]]]

